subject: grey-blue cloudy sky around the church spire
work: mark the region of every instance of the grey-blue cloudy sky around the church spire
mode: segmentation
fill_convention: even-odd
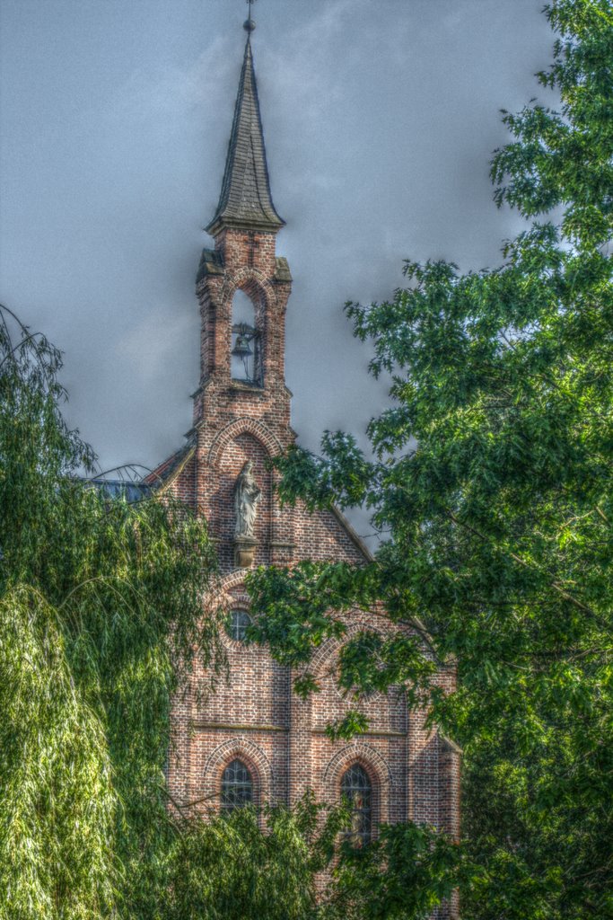
[[[494,266],[500,109],[550,102],[541,0],[257,0],[255,72],[278,255],[294,278],[292,424],[364,430],[385,405],[347,300],[404,259]],[[243,0],[0,0],[0,301],[64,352],[66,414],[102,468],[183,443],[194,280],[221,189]]]

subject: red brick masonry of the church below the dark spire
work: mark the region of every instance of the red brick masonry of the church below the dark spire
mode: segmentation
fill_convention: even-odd
[[[205,250],[197,293],[201,314],[200,383],[194,394],[194,429],[187,447],[160,467],[165,489],[186,500],[210,525],[217,542],[223,592],[228,604],[249,610],[244,569],[234,565],[233,489],[247,459],[262,491],[255,522],[255,565],[290,565],[299,559],[343,559],[359,564],[367,551],[340,514],[308,513],[300,504],[281,509],[267,459],[294,441],[285,385],[285,313],[290,292],[287,262],[277,259],[276,235],[221,227],[215,248]],[[255,308],[263,352],[263,385],[231,376],[233,297],[246,293]],[[170,472],[168,472],[170,471]],[[256,613],[256,612],[255,612]],[[384,613],[352,611],[348,634],[362,627],[385,633]],[[398,627],[394,627],[398,628]],[[339,651],[329,641],[312,670],[322,690],[302,701],[291,692],[293,674],[266,649],[224,638],[230,679],[201,696],[205,673],[175,701],[173,748],[168,784],[178,802],[219,807],[223,769],[238,757],[254,780],[255,800],[292,802],[312,788],[318,799],[335,801],[341,777],[354,763],[363,766],[373,789],[373,819],[428,822],[458,835],[460,753],[436,731],[425,713],[409,712],[402,688],[363,702],[367,734],[331,742],[324,733],[331,719],[350,705],[335,687]],[[438,674],[451,689],[452,667]],[[446,905],[437,917],[457,914]]]

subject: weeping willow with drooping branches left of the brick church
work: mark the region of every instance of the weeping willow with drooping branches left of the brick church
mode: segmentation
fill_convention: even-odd
[[[176,662],[216,661],[214,554],[183,507],[75,477],[60,353],[0,316],[0,916],[149,920]]]

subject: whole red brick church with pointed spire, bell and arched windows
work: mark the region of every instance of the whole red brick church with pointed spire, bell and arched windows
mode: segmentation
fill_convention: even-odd
[[[232,808],[253,800],[291,802],[312,788],[317,799],[358,797],[364,839],[380,822],[429,822],[458,833],[459,753],[424,715],[390,692],[362,702],[370,727],[355,741],[332,742],[326,724],[350,705],[335,688],[339,643],[317,652],[321,693],[292,694],[294,675],[264,648],[245,645],[251,612],[244,576],[252,565],[300,559],[359,564],[368,550],[339,512],[281,509],[267,459],[293,443],[285,385],[285,313],[291,290],[277,255],[283,220],[273,204],[255,85],[251,18],[217,211],[207,231],[196,291],[201,316],[200,380],[187,443],[154,474],[160,489],[204,515],[219,548],[231,611],[224,637],[229,683],[212,696],[187,691],[173,714],[168,767],[176,801]],[[354,611],[348,635],[368,625],[385,633],[384,615]],[[397,629],[394,626],[394,629]],[[194,675],[194,687],[199,677]],[[453,669],[440,672],[451,687]],[[356,799],[358,800],[358,799]],[[440,914],[440,916],[448,914]]]

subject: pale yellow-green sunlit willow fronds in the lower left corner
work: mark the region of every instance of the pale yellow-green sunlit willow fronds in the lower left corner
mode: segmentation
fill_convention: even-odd
[[[0,916],[108,915],[118,799],[99,719],[74,692],[54,611],[0,602]]]

